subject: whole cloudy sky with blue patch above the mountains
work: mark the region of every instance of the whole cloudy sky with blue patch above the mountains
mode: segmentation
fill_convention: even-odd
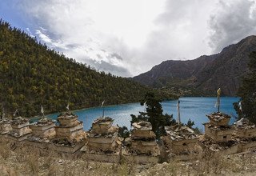
[[[0,0],[0,18],[78,62],[132,77],[256,34],[256,0]]]

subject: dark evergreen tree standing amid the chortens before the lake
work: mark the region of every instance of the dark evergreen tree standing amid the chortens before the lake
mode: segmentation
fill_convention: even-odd
[[[150,122],[158,139],[166,134],[164,126],[176,123],[172,114],[162,114],[161,102],[161,99],[156,98],[153,92],[147,92],[141,102],[142,106],[146,106],[146,112],[139,112],[138,116],[131,114],[131,123],[141,120]]]

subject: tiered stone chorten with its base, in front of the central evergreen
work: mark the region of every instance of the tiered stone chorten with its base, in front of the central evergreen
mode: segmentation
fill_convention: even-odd
[[[134,122],[130,138],[126,138],[126,156],[134,157],[134,162],[158,162],[160,149],[150,122]]]

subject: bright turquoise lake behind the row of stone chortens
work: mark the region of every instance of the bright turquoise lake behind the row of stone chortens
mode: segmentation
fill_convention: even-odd
[[[233,102],[238,102],[239,98],[222,97],[220,111],[230,114],[232,117],[230,123],[235,120],[236,113],[233,108]],[[206,114],[217,111],[214,108],[216,98],[202,98],[202,97],[186,97],[180,98],[181,121],[186,123],[190,118],[194,121],[194,127],[203,130],[202,123],[208,122]],[[177,118],[177,100],[163,101],[162,109],[164,114],[173,114]],[[144,111],[145,107],[140,103],[129,103],[117,106],[105,106],[105,116],[114,118],[114,124],[118,126],[127,126],[130,129],[130,114],[138,114],[139,111]],[[59,113],[47,115],[50,118],[57,119]],[[90,130],[94,119],[102,117],[102,108],[94,107],[84,110],[74,110],[74,114],[78,115],[78,119],[83,122],[84,130]]]

